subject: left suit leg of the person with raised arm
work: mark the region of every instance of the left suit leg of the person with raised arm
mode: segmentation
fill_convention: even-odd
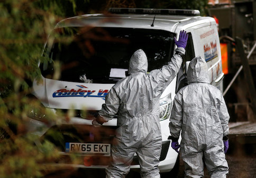
[[[111,165],[106,168],[107,178],[125,177],[130,171],[130,165],[136,149],[121,146],[111,148]]]

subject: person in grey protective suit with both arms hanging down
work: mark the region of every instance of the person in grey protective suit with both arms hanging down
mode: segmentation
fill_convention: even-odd
[[[203,177],[204,162],[211,177],[228,173],[225,153],[230,115],[221,91],[209,84],[207,71],[205,60],[195,57],[188,67],[188,85],[178,91],[173,102],[171,146],[177,152],[180,147],[185,177]]]

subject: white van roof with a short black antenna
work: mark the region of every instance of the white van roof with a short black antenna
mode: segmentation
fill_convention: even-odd
[[[197,11],[197,10],[196,10]],[[199,12],[199,11],[198,11]],[[202,17],[197,15],[169,15],[167,13],[120,13],[117,14],[86,14],[70,17],[60,21],[58,27],[81,27],[81,26],[100,26],[100,27],[123,27],[123,28],[146,28],[162,29],[169,32],[175,32],[177,26],[182,28],[214,22],[212,17]],[[207,21],[206,21],[207,18]],[[208,18],[212,18],[209,21]],[[153,25],[152,25],[153,24]],[[186,28],[185,28],[186,25]]]

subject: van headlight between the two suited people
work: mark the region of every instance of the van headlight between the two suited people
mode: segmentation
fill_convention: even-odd
[[[159,103],[160,103],[160,114],[159,114],[160,121],[166,120],[167,118],[169,118],[171,114],[171,108],[173,103],[171,98],[171,93],[161,98]]]

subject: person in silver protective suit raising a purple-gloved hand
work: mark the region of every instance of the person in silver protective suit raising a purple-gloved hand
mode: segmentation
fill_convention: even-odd
[[[106,177],[125,177],[134,153],[138,155],[142,177],[160,177],[159,99],[179,71],[187,39],[188,34],[180,32],[179,41],[175,38],[177,48],[170,62],[149,74],[143,50],[134,52],[129,64],[130,76],[118,81],[107,94],[102,110],[93,121],[97,126],[117,115],[116,144],[111,147],[111,164],[106,168]]]

